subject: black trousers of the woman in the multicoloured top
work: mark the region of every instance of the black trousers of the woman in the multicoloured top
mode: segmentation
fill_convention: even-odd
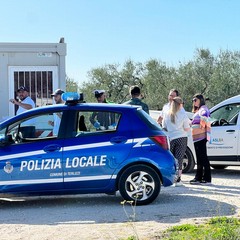
[[[197,181],[205,180],[207,182],[211,182],[211,168],[207,157],[206,143],[206,139],[194,142],[197,157],[197,173],[195,178]]]

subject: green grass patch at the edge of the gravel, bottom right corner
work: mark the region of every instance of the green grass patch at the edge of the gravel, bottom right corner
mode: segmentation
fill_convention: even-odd
[[[240,240],[240,219],[216,217],[201,225],[183,224],[167,229],[161,240]]]

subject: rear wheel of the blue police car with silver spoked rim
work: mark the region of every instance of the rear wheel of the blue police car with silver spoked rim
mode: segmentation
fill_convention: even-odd
[[[153,168],[135,165],[122,173],[118,186],[124,200],[133,201],[136,205],[146,205],[159,195],[161,181]]]

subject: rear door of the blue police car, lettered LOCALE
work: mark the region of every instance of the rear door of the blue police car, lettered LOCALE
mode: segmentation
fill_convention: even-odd
[[[66,140],[63,153],[64,185],[66,188],[91,189],[107,187],[115,181],[116,168],[124,161],[131,149],[129,131],[122,132],[121,122],[124,118],[120,113],[103,112],[108,119],[114,119],[106,124],[97,119],[97,112],[81,111],[69,115],[75,119],[73,137]],[[103,114],[103,115],[104,115]],[[102,115],[101,115],[102,116]],[[126,128],[126,127],[125,127]],[[130,140],[131,141],[131,140]],[[83,190],[84,191],[84,190]]]

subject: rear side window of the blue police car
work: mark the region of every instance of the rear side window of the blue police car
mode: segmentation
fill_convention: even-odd
[[[76,136],[93,132],[116,131],[120,114],[115,112],[78,112],[76,121]]]

